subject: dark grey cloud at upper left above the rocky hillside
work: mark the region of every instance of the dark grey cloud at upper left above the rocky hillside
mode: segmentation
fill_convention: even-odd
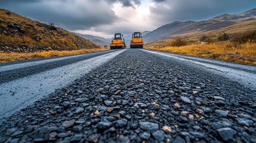
[[[69,30],[90,29],[111,24],[117,17],[111,5],[103,0],[1,0],[0,7],[26,17],[53,22]]]

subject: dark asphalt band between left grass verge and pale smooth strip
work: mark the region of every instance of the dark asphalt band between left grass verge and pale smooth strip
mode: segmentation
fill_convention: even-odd
[[[43,71],[51,70],[57,67],[73,64],[78,61],[87,60],[95,56],[104,55],[113,51],[95,52],[92,54],[80,54],[67,57],[57,57],[51,59],[40,59],[38,61],[21,61],[20,63],[10,63],[4,66],[0,65],[0,84],[10,82],[11,80],[20,79],[21,77],[30,76]],[[18,70],[17,70],[18,69]]]

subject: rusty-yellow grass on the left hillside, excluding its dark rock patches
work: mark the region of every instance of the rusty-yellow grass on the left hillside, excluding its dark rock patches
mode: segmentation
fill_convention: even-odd
[[[0,8],[0,27],[7,30],[7,25],[10,23],[19,24],[21,29],[24,29],[25,32],[11,32],[8,35],[1,33],[0,42],[60,47],[63,50],[67,48],[72,48],[73,50],[100,48],[100,46],[95,45],[95,43],[92,43],[88,39],[84,39],[60,27],[55,27],[56,30],[53,30],[48,24],[30,20],[29,18]],[[41,40],[36,41],[37,37],[41,38]]]

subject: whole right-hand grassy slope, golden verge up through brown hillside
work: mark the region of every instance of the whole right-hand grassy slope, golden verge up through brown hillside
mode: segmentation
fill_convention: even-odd
[[[221,39],[224,33],[228,35],[226,41]],[[147,42],[145,48],[256,65],[256,20],[180,36],[183,37]],[[206,41],[209,42],[201,42],[203,36],[208,37]]]

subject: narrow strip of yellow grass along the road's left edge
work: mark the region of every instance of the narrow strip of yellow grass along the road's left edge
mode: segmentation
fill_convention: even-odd
[[[7,63],[10,61],[18,60],[30,60],[35,58],[47,58],[47,57],[57,57],[62,55],[73,55],[82,54],[86,52],[98,52],[106,51],[108,48],[94,48],[94,49],[79,49],[73,51],[43,51],[43,52],[30,52],[30,53],[0,53],[0,63]]]

